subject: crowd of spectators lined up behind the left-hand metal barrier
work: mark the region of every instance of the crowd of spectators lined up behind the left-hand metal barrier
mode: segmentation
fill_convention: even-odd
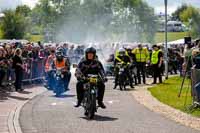
[[[0,43],[0,89],[12,83],[16,91],[23,88],[21,83],[41,83],[45,76],[45,62],[51,51],[62,47],[65,56],[77,60],[83,54],[83,46],[62,44],[41,44],[7,42]]]

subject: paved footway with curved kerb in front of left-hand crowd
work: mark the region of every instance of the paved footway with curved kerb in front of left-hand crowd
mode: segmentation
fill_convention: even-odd
[[[44,91],[43,87],[36,86],[20,93],[0,88],[0,133],[16,133],[19,129],[18,112],[21,107],[35,95]]]

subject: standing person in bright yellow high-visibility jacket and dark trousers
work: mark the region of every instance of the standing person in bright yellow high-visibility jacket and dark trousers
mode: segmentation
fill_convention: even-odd
[[[147,48],[139,44],[137,48],[132,51],[136,57],[136,67],[137,67],[137,78],[138,84],[141,84],[141,74],[143,78],[143,83],[146,84],[146,63],[149,61],[149,51]]]

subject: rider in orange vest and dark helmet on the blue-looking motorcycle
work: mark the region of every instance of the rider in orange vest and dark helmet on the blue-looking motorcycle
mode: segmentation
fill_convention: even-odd
[[[53,61],[52,64],[53,69],[62,69],[62,74],[64,75],[64,86],[65,90],[69,90],[68,85],[71,79],[71,73],[70,73],[70,62],[67,58],[64,58],[64,53],[62,48],[58,48],[56,50],[56,58]]]

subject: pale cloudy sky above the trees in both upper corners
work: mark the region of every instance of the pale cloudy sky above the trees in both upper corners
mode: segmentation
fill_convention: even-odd
[[[33,8],[38,1],[39,0],[0,0],[0,11],[5,8],[15,8],[20,4],[26,4]],[[146,1],[150,6],[154,7],[156,13],[164,12],[164,0],[144,1]],[[200,0],[168,0],[168,13],[171,14],[183,3],[191,4],[200,8]]]

